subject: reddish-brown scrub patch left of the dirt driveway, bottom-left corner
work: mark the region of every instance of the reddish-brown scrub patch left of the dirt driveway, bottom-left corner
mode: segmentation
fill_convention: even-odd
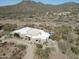
[[[26,54],[25,49],[26,46],[24,45],[16,45],[8,42],[0,43],[0,58],[22,59],[24,54]]]

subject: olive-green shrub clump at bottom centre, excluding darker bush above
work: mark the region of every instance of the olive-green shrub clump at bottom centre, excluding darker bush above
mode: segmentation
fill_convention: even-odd
[[[48,59],[50,52],[51,52],[51,48],[45,48],[45,49],[36,48],[35,55],[41,59]]]

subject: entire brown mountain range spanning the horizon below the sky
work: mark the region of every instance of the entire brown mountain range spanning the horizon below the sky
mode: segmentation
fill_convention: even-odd
[[[35,1],[22,1],[19,4],[0,7],[0,14],[36,14],[46,13],[47,11],[77,11],[79,12],[79,3],[68,2],[60,5],[47,5]]]

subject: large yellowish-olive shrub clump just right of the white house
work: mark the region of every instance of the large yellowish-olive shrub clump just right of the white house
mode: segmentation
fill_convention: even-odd
[[[72,31],[71,26],[62,25],[55,28],[55,34],[53,35],[53,39],[64,39],[67,40],[68,34]]]

